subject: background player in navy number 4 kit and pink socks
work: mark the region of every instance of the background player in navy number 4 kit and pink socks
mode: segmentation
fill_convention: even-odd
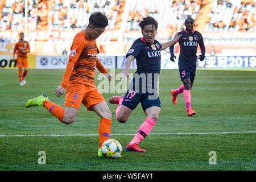
[[[201,55],[199,60],[204,60],[205,47],[203,36],[196,30],[193,30],[195,26],[195,20],[193,18],[185,19],[186,29],[179,32],[181,35],[179,39],[180,44],[180,56],[179,56],[179,72],[180,78],[183,85],[180,85],[176,90],[172,89],[172,103],[177,104],[177,95],[183,93],[185,105],[187,107],[188,116],[195,115],[196,112],[191,108],[191,94],[190,90],[193,86],[193,82],[196,76],[196,61],[197,61],[197,45],[199,44],[201,49]],[[170,47],[171,57],[170,60],[174,61],[176,59],[174,55],[174,45]]]

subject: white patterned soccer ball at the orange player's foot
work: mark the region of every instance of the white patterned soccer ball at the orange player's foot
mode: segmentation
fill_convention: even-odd
[[[101,151],[106,158],[118,158],[122,153],[122,146],[117,140],[108,139],[102,143]]]

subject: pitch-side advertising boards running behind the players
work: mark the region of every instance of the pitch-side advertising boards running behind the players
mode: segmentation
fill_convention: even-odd
[[[123,69],[125,56],[98,56],[107,69]],[[176,55],[177,59],[179,55]],[[36,56],[37,69],[65,69],[68,56]],[[162,69],[177,69],[178,61],[170,61],[170,55],[162,55]],[[15,68],[10,55],[0,55],[0,69]],[[131,69],[136,69],[136,60],[131,63]],[[205,56],[204,61],[197,61],[197,68],[256,68],[256,56]]]

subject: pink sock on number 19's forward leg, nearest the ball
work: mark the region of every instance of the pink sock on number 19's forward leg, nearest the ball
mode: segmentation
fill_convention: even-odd
[[[145,137],[147,137],[148,134],[150,134],[150,131],[152,130],[154,125],[154,119],[146,118],[146,121],[144,121],[139,127],[137,134],[134,136],[133,140],[131,140],[130,144],[141,142],[141,140],[143,140]]]

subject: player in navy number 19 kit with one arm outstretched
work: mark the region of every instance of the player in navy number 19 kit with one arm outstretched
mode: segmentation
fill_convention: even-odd
[[[131,112],[141,102],[146,114],[146,120],[139,127],[138,133],[126,146],[126,151],[145,152],[139,147],[141,142],[152,130],[160,113],[160,99],[157,91],[157,83],[161,68],[161,52],[174,45],[181,35],[175,35],[173,40],[160,44],[155,40],[158,22],[151,16],[143,18],[139,23],[142,30],[142,38],[135,40],[126,54],[125,69],[121,72],[122,78],[129,76],[131,62],[136,59],[137,71],[133,75],[129,89],[125,96],[110,98],[110,104],[117,104],[117,121],[125,123]]]

